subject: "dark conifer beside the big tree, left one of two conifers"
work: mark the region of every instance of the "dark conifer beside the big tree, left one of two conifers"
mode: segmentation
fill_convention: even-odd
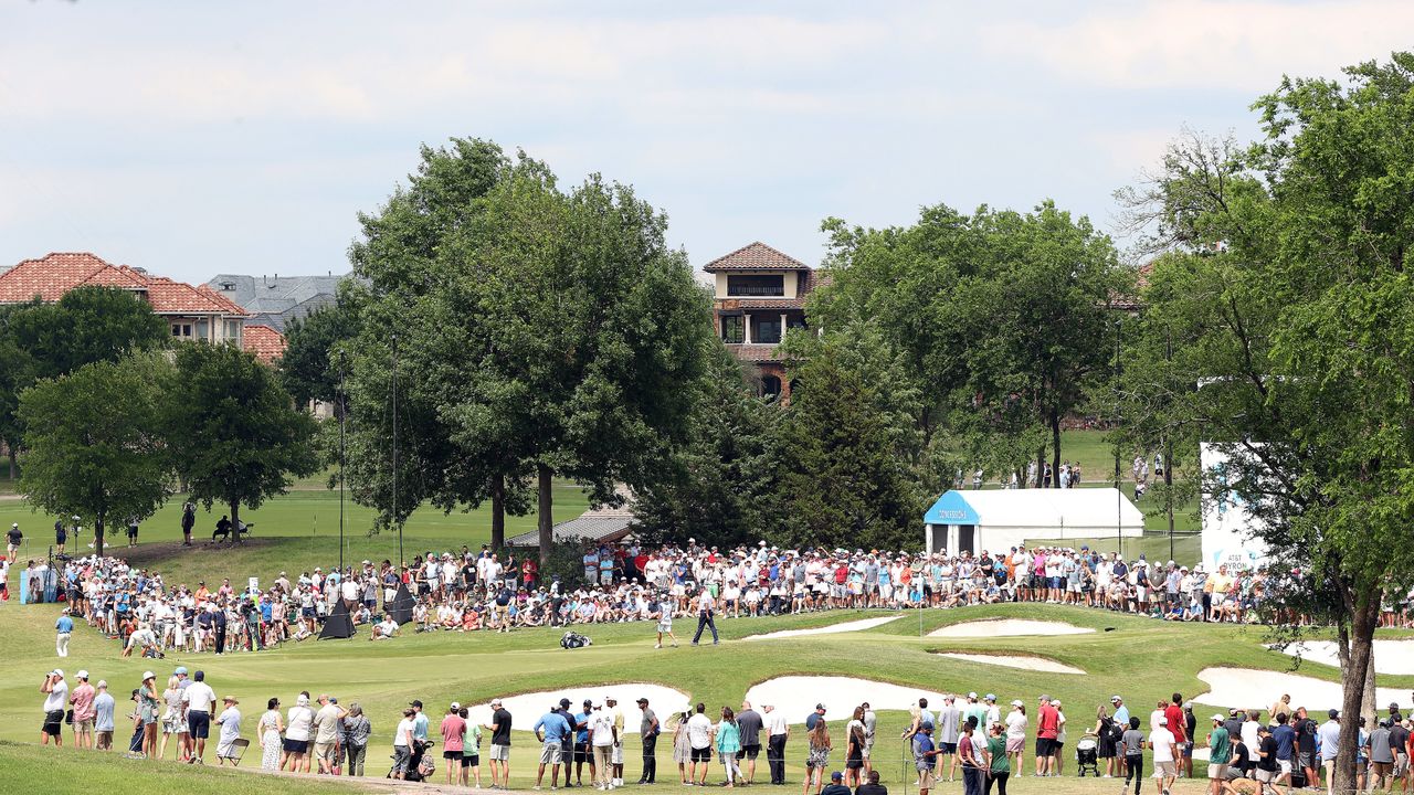
[[[785,525],[779,494],[781,407],[748,388],[741,364],[710,340],[710,366],[689,385],[687,433],[663,477],[638,497],[633,515],[648,539],[734,546],[776,540]]]

